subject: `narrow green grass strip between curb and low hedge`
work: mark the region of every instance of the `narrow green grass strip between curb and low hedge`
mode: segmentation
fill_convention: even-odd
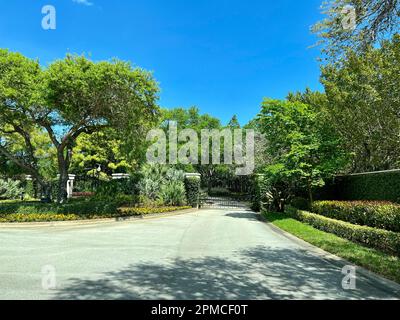
[[[399,257],[320,231],[305,223],[289,218],[284,213],[264,212],[263,216],[278,228],[316,247],[400,283]]]

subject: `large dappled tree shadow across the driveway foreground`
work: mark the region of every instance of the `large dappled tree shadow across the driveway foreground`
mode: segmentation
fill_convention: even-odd
[[[298,248],[255,247],[231,259],[138,263],[100,279],[70,279],[54,299],[347,299],[391,298],[365,282],[341,287],[341,266]]]

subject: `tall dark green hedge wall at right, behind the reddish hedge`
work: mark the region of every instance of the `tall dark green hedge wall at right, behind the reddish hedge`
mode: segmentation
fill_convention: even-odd
[[[337,177],[335,184],[335,199],[400,203],[400,170]]]

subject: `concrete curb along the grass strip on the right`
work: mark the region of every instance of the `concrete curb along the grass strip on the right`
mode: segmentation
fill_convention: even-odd
[[[264,222],[272,231],[296,242],[297,244],[301,245],[302,247],[305,247],[311,253],[315,254],[316,256],[323,259],[324,261],[331,262],[332,260],[334,260],[335,262],[340,263],[343,266],[345,266],[345,265],[354,266],[355,265],[353,262],[347,261],[346,259],[336,256],[333,253],[327,252],[317,246],[314,246],[313,244],[311,244],[307,241],[304,241],[303,239],[296,237],[295,235],[293,235],[285,230],[282,230],[281,228],[277,227],[276,225],[274,225],[273,223],[268,221],[263,216],[263,214],[260,213],[259,217],[260,217],[260,221]],[[330,261],[327,261],[327,260],[330,260]],[[361,274],[366,280],[368,280],[368,279],[375,280],[381,286],[380,287],[381,290],[386,291],[385,287],[390,288],[391,290],[393,290],[393,293],[398,296],[398,299],[400,299],[400,284],[398,284],[397,282],[386,279],[382,275],[372,272],[372,271],[370,271],[364,267],[361,267],[359,265],[357,265],[357,273]]]

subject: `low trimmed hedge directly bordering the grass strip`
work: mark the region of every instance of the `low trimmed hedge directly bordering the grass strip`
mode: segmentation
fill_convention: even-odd
[[[392,231],[327,218],[287,206],[286,213],[319,230],[339,237],[400,256],[400,234]]]

